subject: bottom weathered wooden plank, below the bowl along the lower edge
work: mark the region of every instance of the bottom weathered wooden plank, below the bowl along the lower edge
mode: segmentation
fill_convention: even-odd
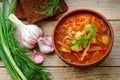
[[[93,67],[80,69],[74,67],[46,68],[52,80],[120,80],[119,67]],[[12,80],[6,68],[0,68],[0,80]]]

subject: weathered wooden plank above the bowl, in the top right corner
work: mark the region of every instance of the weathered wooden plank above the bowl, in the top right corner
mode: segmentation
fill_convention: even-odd
[[[97,10],[108,19],[120,19],[120,0],[65,0],[69,11],[80,8]]]

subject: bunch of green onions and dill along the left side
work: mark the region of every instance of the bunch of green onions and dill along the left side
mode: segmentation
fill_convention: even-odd
[[[17,0],[9,5],[9,16],[14,13]],[[17,41],[13,23],[6,18],[6,0],[0,9],[0,57],[14,80],[50,80],[49,73],[27,57],[26,50]]]

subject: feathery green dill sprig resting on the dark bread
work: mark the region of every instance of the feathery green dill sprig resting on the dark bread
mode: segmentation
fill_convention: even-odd
[[[46,0],[45,6],[40,11],[34,11],[36,13],[53,16],[60,9],[59,0]]]

